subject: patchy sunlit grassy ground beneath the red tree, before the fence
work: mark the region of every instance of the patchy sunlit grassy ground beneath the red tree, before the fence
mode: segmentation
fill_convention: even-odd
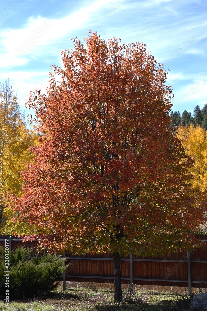
[[[6,307],[0,302],[0,311],[183,311],[191,310],[191,297],[185,288],[164,286],[134,286],[130,295],[123,285],[122,302],[113,300],[113,284],[68,282],[67,290],[61,286],[50,295],[25,302],[11,302]],[[179,290],[179,291],[178,291]],[[198,293],[194,289],[194,294]]]

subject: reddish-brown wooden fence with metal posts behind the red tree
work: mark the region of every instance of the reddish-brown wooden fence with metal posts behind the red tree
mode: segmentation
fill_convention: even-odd
[[[207,236],[200,237],[207,242]],[[9,240],[9,248],[17,246],[34,248],[37,241],[22,244],[20,238],[8,235],[0,236],[0,245]],[[66,254],[64,254],[66,256]],[[77,256],[67,254],[67,264],[70,266],[59,279],[66,281],[113,283],[113,259],[111,254],[86,254]],[[205,249],[195,249],[192,252],[166,253],[160,257],[137,257],[132,254],[121,258],[122,283],[143,285],[164,285],[207,288],[207,244]]]

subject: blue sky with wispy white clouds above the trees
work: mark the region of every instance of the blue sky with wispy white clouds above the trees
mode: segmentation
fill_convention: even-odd
[[[144,42],[169,69],[173,111],[207,103],[206,0],[4,0],[0,2],[0,83],[9,78],[20,107],[45,92],[51,65],[88,31],[107,40]],[[28,111],[26,110],[26,113]]]

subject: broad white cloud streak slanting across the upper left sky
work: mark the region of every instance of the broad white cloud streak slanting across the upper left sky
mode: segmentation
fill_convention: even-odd
[[[50,19],[42,16],[30,17],[20,29],[6,29],[0,34],[1,68],[24,65],[29,58],[53,53],[52,46],[77,29],[82,29],[86,21],[101,9],[111,9],[120,1],[96,0],[86,7],[61,19]],[[47,51],[46,51],[47,47]],[[51,48],[49,48],[51,47]]]

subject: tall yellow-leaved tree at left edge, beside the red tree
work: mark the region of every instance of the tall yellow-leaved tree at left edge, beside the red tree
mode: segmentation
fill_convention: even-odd
[[[34,144],[34,132],[26,128],[25,118],[20,114],[17,96],[9,81],[0,88],[0,230],[11,234],[14,224],[10,222],[14,211],[3,202],[7,192],[20,196],[22,179],[20,171],[25,162],[33,158],[28,150]]]

